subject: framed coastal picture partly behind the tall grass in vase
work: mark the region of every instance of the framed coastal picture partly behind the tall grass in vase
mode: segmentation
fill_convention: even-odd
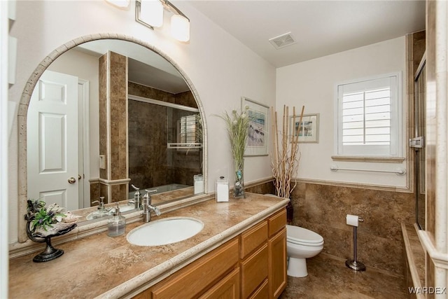
[[[241,98],[242,111],[248,106],[249,128],[244,155],[267,155],[269,144],[269,106]]]

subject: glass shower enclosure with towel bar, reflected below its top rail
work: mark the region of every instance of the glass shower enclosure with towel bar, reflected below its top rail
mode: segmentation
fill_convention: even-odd
[[[191,92],[182,97],[190,98]],[[202,140],[196,134],[199,110],[131,95],[128,109],[132,184],[157,190],[153,195],[178,189],[183,189],[179,194],[193,195],[194,176],[202,173]],[[131,188],[130,198],[134,192]]]

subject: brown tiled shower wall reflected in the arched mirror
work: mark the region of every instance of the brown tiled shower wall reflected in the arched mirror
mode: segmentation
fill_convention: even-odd
[[[192,92],[176,95],[130,82],[129,94],[197,108]],[[176,109],[177,110],[177,109]],[[175,111],[172,118],[176,121]],[[129,177],[140,188],[181,183],[193,186],[193,176],[202,172],[202,151],[167,152],[167,107],[129,101]],[[174,125],[174,127],[176,127]],[[151,138],[147,138],[151,137]],[[172,140],[173,141],[173,140]]]

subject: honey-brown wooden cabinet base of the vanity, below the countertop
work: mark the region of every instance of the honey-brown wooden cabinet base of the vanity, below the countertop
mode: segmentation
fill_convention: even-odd
[[[134,298],[278,298],[286,287],[285,225],[281,209]]]

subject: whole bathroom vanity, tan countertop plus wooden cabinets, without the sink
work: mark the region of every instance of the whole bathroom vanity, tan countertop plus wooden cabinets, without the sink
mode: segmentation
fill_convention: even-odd
[[[137,246],[106,232],[57,245],[64,255],[33,263],[10,260],[10,298],[277,298],[286,287],[288,200],[247,193],[154,217],[188,216],[204,223],[195,236],[162,246]]]

